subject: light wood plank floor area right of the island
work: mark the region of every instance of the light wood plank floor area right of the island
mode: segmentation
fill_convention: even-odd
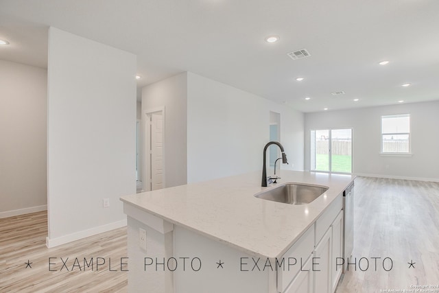
[[[358,177],[354,228],[357,268],[350,266],[337,293],[416,292],[416,285],[439,292],[439,183]],[[381,257],[376,269],[372,257]]]

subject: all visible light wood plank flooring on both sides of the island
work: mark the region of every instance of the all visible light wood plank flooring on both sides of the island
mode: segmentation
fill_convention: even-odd
[[[439,285],[439,183],[358,177],[354,228],[357,267],[349,267],[337,293]],[[0,219],[0,292],[127,291],[127,275],[120,270],[120,259],[126,257],[126,228],[50,249],[45,246],[46,235],[45,212]],[[51,266],[54,272],[49,271],[49,257],[58,257],[52,261],[56,263]],[[75,257],[81,267],[84,258],[102,257],[106,264],[111,259],[111,268],[117,271],[108,266],[60,270],[60,257],[64,261],[69,257],[69,270]],[[380,257],[376,270],[372,257]],[[383,269],[386,257],[392,259],[389,271]],[[28,259],[32,269],[25,268]],[[367,270],[365,259],[369,261]],[[414,268],[409,268],[411,261]],[[388,270],[389,260],[384,264]],[[439,293],[439,288],[435,290]]]

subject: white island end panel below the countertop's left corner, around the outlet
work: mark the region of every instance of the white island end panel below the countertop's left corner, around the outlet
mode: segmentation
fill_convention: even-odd
[[[173,232],[157,231],[151,227],[154,224],[150,226],[130,215],[127,218],[128,292],[174,293],[172,272],[167,269],[173,255]],[[146,231],[146,250],[139,244],[139,228]],[[172,261],[169,264],[172,266]]]

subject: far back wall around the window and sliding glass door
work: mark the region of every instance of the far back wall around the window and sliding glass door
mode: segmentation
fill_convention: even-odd
[[[382,156],[381,116],[410,113],[413,156]],[[398,104],[305,115],[305,169],[309,130],[353,128],[353,173],[366,176],[439,180],[439,102]]]

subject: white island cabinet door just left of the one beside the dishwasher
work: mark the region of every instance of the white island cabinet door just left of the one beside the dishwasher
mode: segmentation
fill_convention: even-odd
[[[330,226],[314,250],[315,293],[331,293],[331,244],[332,227]]]

